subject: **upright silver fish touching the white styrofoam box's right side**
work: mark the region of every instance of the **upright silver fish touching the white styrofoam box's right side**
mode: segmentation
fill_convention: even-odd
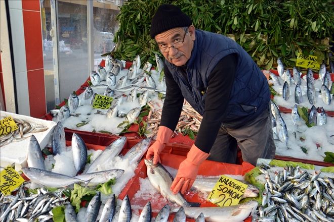
[[[45,170],[43,153],[41,152],[39,143],[34,135],[31,135],[28,151],[27,163],[29,167]]]

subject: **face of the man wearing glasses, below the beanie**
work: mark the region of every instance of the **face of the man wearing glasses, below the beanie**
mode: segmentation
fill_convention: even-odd
[[[170,29],[168,31],[162,32],[155,36],[155,41],[157,42],[161,53],[164,58],[176,65],[183,66],[190,59],[191,51],[194,47],[195,40],[195,27],[193,25],[189,26],[188,32],[180,28]],[[175,42],[182,42],[183,45],[179,48],[175,48]],[[161,48],[168,47],[167,51]]]

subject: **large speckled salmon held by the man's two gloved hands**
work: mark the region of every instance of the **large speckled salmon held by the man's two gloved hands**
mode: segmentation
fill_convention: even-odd
[[[180,206],[191,206],[183,195],[178,192],[173,194],[171,186],[174,178],[160,163],[153,164],[151,160],[144,159],[147,167],[147,177],[153,187],[160,192],[160,194],[168,199],[172,203],[176,203]],[[198,214],[197,214],[198,215]]]

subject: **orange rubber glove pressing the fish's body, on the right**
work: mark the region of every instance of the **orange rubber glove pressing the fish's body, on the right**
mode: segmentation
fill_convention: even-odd
[[[187,158],[180,163],[178,173],[172,183],[171,190],[174,194],[179,191],[184,194],[194,183],[199,165],[210,155],[198,149],[195,144],[190,148]]]

